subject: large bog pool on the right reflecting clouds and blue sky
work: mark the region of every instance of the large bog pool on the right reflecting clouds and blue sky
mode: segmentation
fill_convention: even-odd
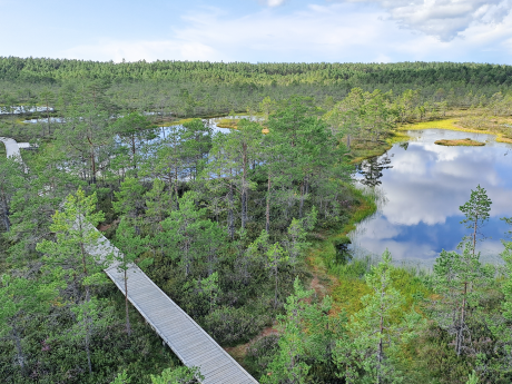
[[[444,249],[455,249],[467,229],[459,207],[479,184],[492,199],[491,219],[482,229],[483,258],[498,260],[512,216],[512,158],[509,145],[492,136],[431,129],[410,131],[413,140],[361,167],[357,178],[376,188],[377,214],[351,234],[356,255],[381,255],[387,247],[395,259],[432,265]],[[437,139],[488,141],[485,147],[442,147]]]

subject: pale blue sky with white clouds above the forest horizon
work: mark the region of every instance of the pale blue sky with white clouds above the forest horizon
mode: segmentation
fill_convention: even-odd
[[[0,56],[511,63],[512,0],[0,0]]]

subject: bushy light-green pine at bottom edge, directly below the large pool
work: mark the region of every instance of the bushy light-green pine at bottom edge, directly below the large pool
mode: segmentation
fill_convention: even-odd
[[[403,313],[405,299],[393,287],[392,256],[386,249],[382,262],[365,275],[372,294],[363,296],[363,308],[351,317],[349,337],[336,345],[339,376],[346,383],[401,383],[396,367],[401,341],[414,337],[421,316],[413,309]],[[363,376],[360,377],[360,373]]]

